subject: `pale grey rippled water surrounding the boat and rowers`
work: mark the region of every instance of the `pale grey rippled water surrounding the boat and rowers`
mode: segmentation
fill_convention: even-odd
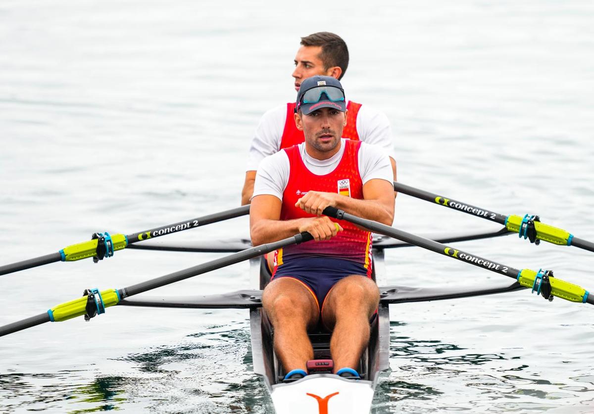
[[[347,95],[390,119],[400,181],[594,240],[591,1],[4,0],[0,263],[238,205],[252,131],[293,99],[299,37],[321,30],[349,45]],[[498,228],[405,195],[394,226]],[[247,235],[240,218],[169,237]],[[594,289],[586,251],[514,236],[459,246]],[[503,278],[416,248],[386,256],[390,284]],[[0,324],[214,257],[125,250],[1,276]],[[247,271],[151,294],[248,288]],[[391,320],[374,413],[594,412],[592,307],[522,291],[393,305]],[[0,412],[110,409],[270,410],[247,311],[115,307],[0,339]]]

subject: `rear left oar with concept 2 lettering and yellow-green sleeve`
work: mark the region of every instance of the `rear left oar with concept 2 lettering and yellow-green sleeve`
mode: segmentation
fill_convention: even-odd
[[[202,217],[192,218],[178,223],[168,224],[162,227],[156,227],[151,230],[140,231],[129,235],[105,233],[108,237],[106,241],[103,234],[101,237],[93,238],[92,240],[83,241],[83,243],[72,244],[72,246],[64,247],[64,249],[57,253],[46,254],[45,256],[34,257],[33,259],[23,260],[22,262],[11,263],[10,265],[0,266],[0,275],[7,275],[8,273],[18,272],[19,270],[31,269],[42,265],[48,265],[55,262],[74,262],[75,260],[87,259],[89,257],[97,257],[103,259],[100,251],[108,249],[109,256],[113,256],[113,251],[122,250],[129,247],[138,241],[147,240],[149,238],[159,237],[165,234],[177,233],[178,231],[188,230],[190,228],[200,227],[203,225],[216,223],[249,214],[249,205],[233,208],[230,210],[209,214]],[[103,246],[106,245],[106,247]],[[108,257],[108,256],[105,256]]]

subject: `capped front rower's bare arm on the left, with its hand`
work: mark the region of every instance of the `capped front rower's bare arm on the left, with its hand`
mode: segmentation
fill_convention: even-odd
[[[328,240],[342,227],[327,216],[280,220],[281,201],[267,194],[255,196],[249,208],[249,233],[252,244],[258,246],[282,240],[302,231],[308,231],[314,240]]]

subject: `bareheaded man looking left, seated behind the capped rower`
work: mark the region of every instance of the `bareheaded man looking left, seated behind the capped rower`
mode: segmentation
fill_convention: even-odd
[[[334,33],[321,31],[301,38],[301,47],[295,56],[295,90],[304,79],[314,75],[326,75],[342,79],[349,65],[349,50],[345,41]],[[349,101],[347,123],[343,138],[378,145],[385,154],[390,155],[394,181],[396,181],[396,161],[393,154],[393,141],[390,122],[385,114],[372,107]],[[304,141],[303,132],[296,128],[293,120],[295,103],[275,107],[264,113],[249,147],[247,171],[244,188],[241,192],[241,205],[246,205],[254,192],[254,180],[258,164],[268,155]]]

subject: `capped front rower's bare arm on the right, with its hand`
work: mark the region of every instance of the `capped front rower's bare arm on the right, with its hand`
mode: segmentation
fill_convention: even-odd
[[[310,191],[295,204],[309,214],[320,215],[327,206],[333,206],[369,220],[392,225],[394,221],[394,186],[390,181],[373,179],[363,186],[362,200],[336,193]]]

